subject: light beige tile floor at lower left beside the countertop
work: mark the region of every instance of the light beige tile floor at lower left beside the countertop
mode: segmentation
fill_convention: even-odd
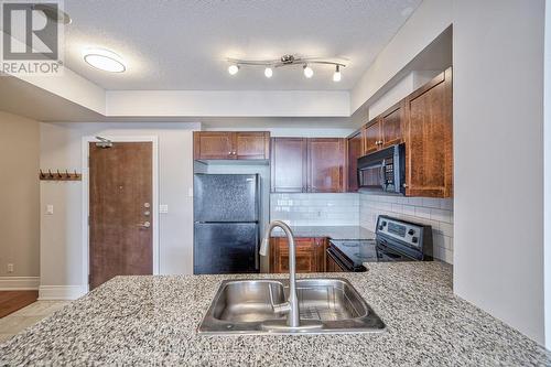
[[[36,324],[68,303],[68,301],[36,301],[0,319],[0,343]]]

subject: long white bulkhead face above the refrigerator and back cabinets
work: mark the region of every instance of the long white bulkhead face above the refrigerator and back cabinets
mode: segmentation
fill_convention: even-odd
[[[107,116],[348,117],[347,90],[109,90]]]

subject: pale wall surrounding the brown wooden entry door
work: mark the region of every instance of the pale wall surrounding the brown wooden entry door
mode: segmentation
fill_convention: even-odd
[[[194,123],[41,123],[41,166],[82,170],[85,136],[156,136],[160,215],[160,273],[193,272],[193,133]],[[82,183],[41,184],[41,296],[72,296],[85,291],[83,279]],[[71,288],[73,287],[73,288]],[[64,293],[65,292],[65,293]]]

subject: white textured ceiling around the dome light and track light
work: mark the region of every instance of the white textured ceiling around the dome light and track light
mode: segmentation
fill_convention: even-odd
[[[350,89],[421,0],[65,0],[65,63],[106,89]],[[106,47],[127,62],[123,74],[87,66],[82,51]],[[226,57],[345,57],[333,68],[300,66],[227,73]]]

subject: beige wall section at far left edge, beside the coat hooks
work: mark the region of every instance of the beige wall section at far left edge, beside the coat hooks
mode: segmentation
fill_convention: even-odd
[[[39,128],[0,111],[0,289],[39,285]]]

